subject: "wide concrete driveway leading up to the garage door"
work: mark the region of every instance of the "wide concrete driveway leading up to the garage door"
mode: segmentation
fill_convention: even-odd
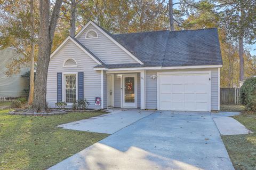
[[[158,111],[50,169],[234,169],[209,112]]]

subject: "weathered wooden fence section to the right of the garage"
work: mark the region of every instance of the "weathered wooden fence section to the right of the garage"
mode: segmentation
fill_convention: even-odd
[[[239,88],[220,88],[220,104],[240,104]]]

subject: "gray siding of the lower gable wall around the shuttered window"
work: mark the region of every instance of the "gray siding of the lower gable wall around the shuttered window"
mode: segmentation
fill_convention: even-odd
[[[69,58],[76,60],[77,67],[63,67],[63,62]],[[84,98],[90,102],[89,108],[100,108],[94,106],[95,97],[101,97],[101,71],[93,69],[96,65],[90,56],[69,40],[49,63],[46,94],[48,106],[55,107],[57,102],[57,72],[84,72]]]

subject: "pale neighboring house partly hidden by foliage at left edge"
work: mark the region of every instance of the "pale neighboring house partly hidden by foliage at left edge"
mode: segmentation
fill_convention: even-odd
[[[21,68],[19,74],[13,74],[10,77],[5,75],[8,70],[7,64],[10,64],[13,59],[22,57],[14,48],[7,47],[0,50],[0,101],[10,101],[21,96],[27,96],[24,89],[28,87],[29,80],[21,77],[25,72],[29,71],[28,67]]]

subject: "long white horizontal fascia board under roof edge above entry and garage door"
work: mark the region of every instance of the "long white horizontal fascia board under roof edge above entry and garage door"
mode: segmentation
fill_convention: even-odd
[[[222,65],[206,65],[206,66],[177,66],[177,67],[134,67],[134,68],[94,68],[94,70],[106,70],[107,73],[114,71],[129,71],[129,70],[175,70],[175,69],[197,69],[197,68],[221,68]]]

